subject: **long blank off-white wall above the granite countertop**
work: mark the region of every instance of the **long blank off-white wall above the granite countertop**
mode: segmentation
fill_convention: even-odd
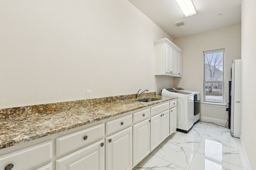
[[[0,108],[173,86],[154,76],[173,39],[127,0],[1,1],[0,23]]]

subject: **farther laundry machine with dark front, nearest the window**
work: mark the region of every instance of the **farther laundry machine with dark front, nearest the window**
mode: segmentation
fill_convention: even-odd
[[[200,93],[192,90],[184,90],[183,88],[176,87],[175,90],[188,92],[194,94],[194,118],[193,122],[196,124],[200,119]]]

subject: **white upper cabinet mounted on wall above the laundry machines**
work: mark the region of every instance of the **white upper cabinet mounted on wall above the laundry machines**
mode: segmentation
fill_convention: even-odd
[[[155,75],[182,77],[182,49],[167,38],[154,41]]]

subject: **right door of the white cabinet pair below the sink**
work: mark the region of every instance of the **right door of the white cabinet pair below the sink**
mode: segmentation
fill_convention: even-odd
[[[166,110],[162,113],[162,139],[161,141],[164,141],[169,135],[170,135],[170,110]]]

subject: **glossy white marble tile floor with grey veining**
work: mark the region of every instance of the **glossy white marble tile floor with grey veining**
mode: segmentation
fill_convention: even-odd
[[[134,170],[247,170],[240,139],[230,129],[198,122],[189,133],[177,132]]]

